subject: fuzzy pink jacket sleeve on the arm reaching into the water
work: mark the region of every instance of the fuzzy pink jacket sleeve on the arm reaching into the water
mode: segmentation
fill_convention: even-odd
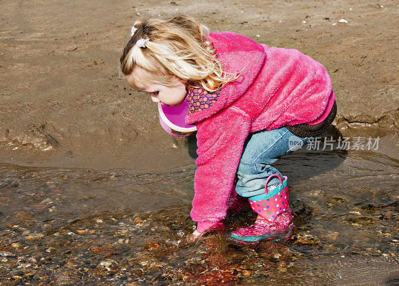
[[[199,157],[191,217],[197,222],[217,222],[226,215],[250,120],[241,110],[227,108],[200,122],[197,129]]]

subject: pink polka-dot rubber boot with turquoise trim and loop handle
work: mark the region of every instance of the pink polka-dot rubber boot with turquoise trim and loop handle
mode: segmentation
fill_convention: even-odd
[[[267,182],[273,176],[280,179],[280,184],[267,192]],[[288,206],[287,177],[284,176],[284,181],[282,181],[279,175],[270,175],[266,180],[265,190],[264,194],[248,198],[252,210],[258,214],[256,222],[249,227],[232,232],[231,238],[240,241],[261,239],[276,241],[291,235],[294,224],[291,223],[292,211]]]

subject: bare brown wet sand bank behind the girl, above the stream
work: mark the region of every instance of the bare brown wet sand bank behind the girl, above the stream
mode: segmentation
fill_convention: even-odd
[[[331,74],[334,125],[343,135],[398,137],[395,1],[2,1],[2,7],[3,162],[97,169],[193,163],[195,142],[166,134],[148,95],[131,90],[118,72],[138,14],[175,9],[211,30],[315,58]],[[384,152],[396,147],[387,144]]]

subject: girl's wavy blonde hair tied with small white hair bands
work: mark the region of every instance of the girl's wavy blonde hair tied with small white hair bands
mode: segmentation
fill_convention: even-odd
[[[122,73],[135,82],[172,85],[177,76],[188,86],[202,86],[215,91],[238,78],[237,73],[223,71],[217,51],[210,41],[208,28],[186,14],[141,17],[133,25],[133,36],[123,49]],[[145,47],[136,45],[139,39],[149,39]],[[135,72],[140,67],[154,75],[143,79]],[[227,75],[230,75],[229,77]]]

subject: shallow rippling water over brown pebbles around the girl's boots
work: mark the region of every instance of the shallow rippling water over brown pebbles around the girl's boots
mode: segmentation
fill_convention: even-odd
[[[224,232],[186,236],[195,166],[163,172],[0,164],[4,285],[397,285],[399,164],[370,151],[293,153],[297,227],[287,241],[240,244],[251,224],[228,213]]]

